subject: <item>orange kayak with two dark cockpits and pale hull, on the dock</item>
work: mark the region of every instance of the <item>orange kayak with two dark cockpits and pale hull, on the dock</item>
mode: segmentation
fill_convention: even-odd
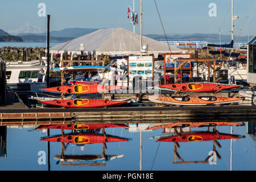
[[[201,105],[214,105],[214,104],[230,104],[240,102],[242,98],[229,98],[229,97],[213,97],[213,96],[171,96],[171,97],[154,97],[148,96],[148,100],[166,105],[187,105],[187,106],[201,106]]]

